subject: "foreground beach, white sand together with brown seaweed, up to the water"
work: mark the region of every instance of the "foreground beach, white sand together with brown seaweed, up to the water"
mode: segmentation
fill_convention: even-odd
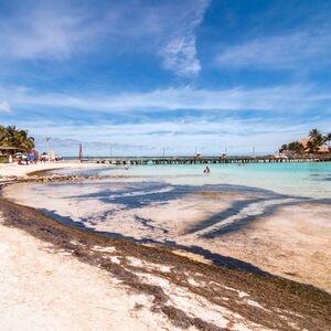
[[[24,319],[34,330],[330,325],[331,297],[313,287],[257,268],[203,265],[166,248],[86,233],[3,200],[0,213],[6,293],[0,314],[8,330],[20,329]],[[223,258],[233,266],[241,263]]]

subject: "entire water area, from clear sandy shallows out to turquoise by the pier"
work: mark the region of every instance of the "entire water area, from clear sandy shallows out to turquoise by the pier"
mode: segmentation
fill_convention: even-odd
[[[105,180],[18,184],[7,197],[110,237],[232,256],[331,289],[331,163],[98,167]],[[297,278],[296,278],[297,277]]]

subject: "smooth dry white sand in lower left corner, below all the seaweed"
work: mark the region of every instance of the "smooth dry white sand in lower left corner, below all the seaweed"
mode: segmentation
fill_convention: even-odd
[[[175,329],[105,271],[1,224],[0,237],[2,331]]]

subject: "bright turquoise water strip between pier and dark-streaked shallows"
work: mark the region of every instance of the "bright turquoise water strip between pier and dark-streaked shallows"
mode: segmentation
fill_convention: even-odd
[[[253,163],[209,164],[210,174],[204,174],[204,164],[131,166],[78,170],[79,174],[128,175],[140,180],[164,181],[180,185],[231,184],[274,191],[280,194],[318,199],[331,197],[331,163]],[[63,172],[68,172],[67,170]]]

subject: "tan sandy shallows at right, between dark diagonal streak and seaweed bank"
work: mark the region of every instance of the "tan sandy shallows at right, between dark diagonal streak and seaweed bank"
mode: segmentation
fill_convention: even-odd
[[[209,247],[331,292],[330,238],[331,205],[305,203],[282,206],[239,232],[209,241]]]

